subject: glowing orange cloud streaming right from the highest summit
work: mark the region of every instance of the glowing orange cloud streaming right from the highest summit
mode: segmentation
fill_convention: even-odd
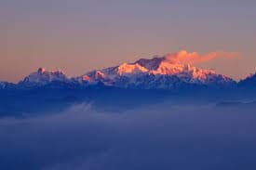
[[[235,52],[209,52],[206,55],[199,55],[196,52],[189,53],[182,50],[178,53],[170,53],[165,58],[175,64],[195,64],[208,62],[212,59],[236,59],[239,55]]]

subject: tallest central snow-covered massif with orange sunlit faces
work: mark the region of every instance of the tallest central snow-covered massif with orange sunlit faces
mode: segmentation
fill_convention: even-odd
[[[171,85],[167,82],[173,82],[170,79],[197,85],[235,84],[234,80],[222,74],[192,66],[190,62],[182,59],[184,55],[187,55],[186,51],[153,59],[139,59],[133,63],[88,72],[79,78],[91,83],[102,82],[105,85],[140,88],[169,88]]]

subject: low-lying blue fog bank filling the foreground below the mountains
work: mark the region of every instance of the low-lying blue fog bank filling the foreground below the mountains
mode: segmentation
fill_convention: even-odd
[[[0,120],[0,169],[256,169],[256,107],[171,105]]]

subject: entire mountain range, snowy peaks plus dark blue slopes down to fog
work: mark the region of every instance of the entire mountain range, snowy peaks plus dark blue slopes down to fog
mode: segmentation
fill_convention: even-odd
[[[169,56],[139,59],[77,77],[39,68],[18,84],[0,82],[0,117],[59,112],[83,103],[103,111],[124,111],[167,100],[221,103],[218,106],[244,101],[254,104],[255,87],[256,74],[236,82]]]

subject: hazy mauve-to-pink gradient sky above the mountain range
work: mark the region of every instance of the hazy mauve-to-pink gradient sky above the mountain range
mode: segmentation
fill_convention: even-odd
[[[236,52],[200,67],[256,71],[255,0],[0,0],[0,80],[38,67],[80,75],[185,49]]]

